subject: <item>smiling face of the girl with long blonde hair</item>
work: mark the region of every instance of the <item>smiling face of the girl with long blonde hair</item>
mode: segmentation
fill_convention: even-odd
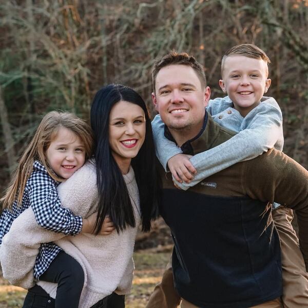
[[[71,130],[61,127],[46,150],[46,159],[55,174],[70,178],[85,163],[85,146]]]

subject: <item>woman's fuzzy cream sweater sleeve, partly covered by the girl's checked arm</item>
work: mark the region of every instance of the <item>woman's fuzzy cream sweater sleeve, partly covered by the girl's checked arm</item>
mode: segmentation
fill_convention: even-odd
[[[75,215],[86,217],[95,211],[97,205],[96,174],[89,163],[58,186],[62,204]],[[54,242],[63,238],[36,223],[31,207],[26,209],[12,223],[0,246],[0,261],[3,275],[12,284],[24,288],[33,286],[33,267],[41,243]]]

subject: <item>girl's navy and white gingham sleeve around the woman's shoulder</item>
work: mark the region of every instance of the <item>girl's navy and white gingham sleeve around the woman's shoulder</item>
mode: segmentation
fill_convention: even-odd
[[[57,189],[49,176],[36,172],[29,189],[29,198],[36,222],[41,227],[65,235],[77,235],[82,229],[82,217],[61,206]]]

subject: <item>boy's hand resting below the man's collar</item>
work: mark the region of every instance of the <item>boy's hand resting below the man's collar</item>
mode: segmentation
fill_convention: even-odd
[[[197,173],[189,158],[191,158],[191,155],[177,154],[168,160],[168,167],[172,176],[180,183],[183,183],[183,181],[189,183]]]

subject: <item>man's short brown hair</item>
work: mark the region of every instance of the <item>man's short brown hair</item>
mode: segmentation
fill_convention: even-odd
[[[154,66],[152,69],[152,83],[153,83],[153,91],[155,92],[155,83],[158,72],[165,66],[168,65],[187,65],[192,67],[198,75],[198,78],[201,82],[202,87],[206,87],[206,77],[203,70],[203,66],[195,59],[194,56],[181,52],[178,53],[175,50],[170,53],[164,55],[161,59],[156,60],[154,62]]]

